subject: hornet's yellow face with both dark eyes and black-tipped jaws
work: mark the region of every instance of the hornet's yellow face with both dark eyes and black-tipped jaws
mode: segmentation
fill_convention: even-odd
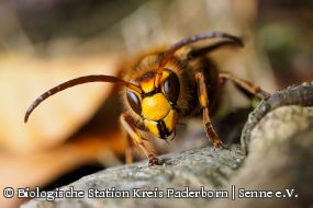
[[[155,73],[144,74],[138,83],[143,93],[127,90],[127,101],[141,115],[148,130],[158,138],[171,140],[178,122],[176,102],[179,96],[179,79],[175,72],[164,70],[159,86],[155,86]]]

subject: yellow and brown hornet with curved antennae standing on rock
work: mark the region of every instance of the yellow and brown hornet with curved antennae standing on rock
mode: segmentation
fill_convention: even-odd
[[[189,46],[209,38],[222,41],[205,47]],[[243,47],[239,37],[223,32],[205,32],[183,38],[167,49],[141,57],[125,70],[123,79],[93,74],[69,80],[37,97],[29,107],[24,122],[27,122],[30,114],[40,103],[57,92],[88,82],[111,82],[125,86],[125,112],[121,115],[121,124],[127,132],[128,147],[131,148],[132,143],[139,147],[149,159],[149,165],[160,164],[160,161],[145,145],[146,139],[142,137],[141,131],[148,131],[157,138],[170,141],[175,138],[178,120],[200,112],[203,114],[208,138],[212,140],[214,148],[221,148],[222,141],[212,126],[209,107],[216,100],[223,83],[230,80],[245,93],[260,100],[269,95],[246,80],[216,70],[205,55],[225,44]],[[131,160],[132,155],[126,153],[126,161]]]

